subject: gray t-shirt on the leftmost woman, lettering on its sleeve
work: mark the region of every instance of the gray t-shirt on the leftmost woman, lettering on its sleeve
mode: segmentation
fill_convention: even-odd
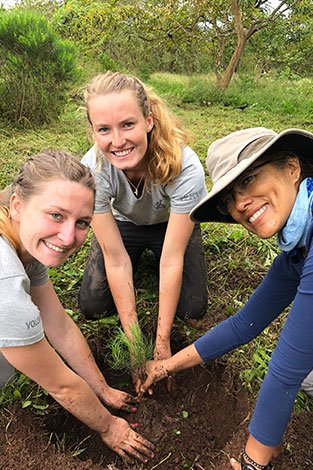
[[[0,236],[1,348],[27,346],[44,337],[40,312],[31,299],[30,287],[41,286],[48,279],[48,270],[43,264],[34,261],[24,267],[12,245]],[[0,386],[6,381],[7,369],[8,363],[2,356]]]

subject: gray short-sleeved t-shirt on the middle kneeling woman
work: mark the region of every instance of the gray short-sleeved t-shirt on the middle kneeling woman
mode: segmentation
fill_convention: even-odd
[[[99,152],[99,150],[98,150]],[[112,210],[115,219],[135,225],[166,222],[169,213],[186,214],[207,194],[202,164],[190,148],[182,150],[182,170],[169,184],[143,190],[137,199],[123,171],[103,158],[98,170],[97,147],[94,145],[82,158],[82,163],[93,172],[96,180],[95,213]]]

